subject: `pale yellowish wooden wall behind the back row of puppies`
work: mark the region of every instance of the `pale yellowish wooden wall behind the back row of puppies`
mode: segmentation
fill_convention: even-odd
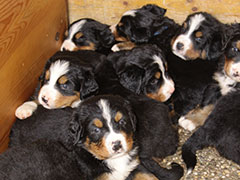
[[[123,12],[147,3],[167,9],[167,16],[182,23],[196,11],[212,13],[222,22],[240,22],[240,0],[68,0],[70,22],[83,17],[115,24]]]

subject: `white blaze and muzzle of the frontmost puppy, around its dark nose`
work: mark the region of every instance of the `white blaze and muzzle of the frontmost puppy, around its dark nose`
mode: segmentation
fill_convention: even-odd
[[[102,116],[107,121],[107,125],[109,128],[109,133],[106,134],[106,148],[109,151],[110,154],[112,154],[114,157],[121,156],[127,151],[127,142],[125,140],[125,137],[121,133],[117,133],[113,130],[113,125],[111,122],[111,110],[109,107],[109,103],[105,99],[101,99],[98,102],[98,106],[102,110]],[[120,153],[114,154],[113,148],[113,142],[120,141],[122,145],[122,150]]]

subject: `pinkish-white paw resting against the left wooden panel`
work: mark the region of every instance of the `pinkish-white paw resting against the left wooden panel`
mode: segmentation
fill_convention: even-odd
[[[37,104],[34,101],[27,101],[16,109],[15,116],[19,119],[26,119],[30,117],[36,109]]]

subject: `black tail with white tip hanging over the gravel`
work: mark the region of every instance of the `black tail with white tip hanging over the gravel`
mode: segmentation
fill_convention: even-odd
[[[205,131],[200,127],[182,146],[182,158],[190,174],[197,164],[196,151],[208,146]]]

